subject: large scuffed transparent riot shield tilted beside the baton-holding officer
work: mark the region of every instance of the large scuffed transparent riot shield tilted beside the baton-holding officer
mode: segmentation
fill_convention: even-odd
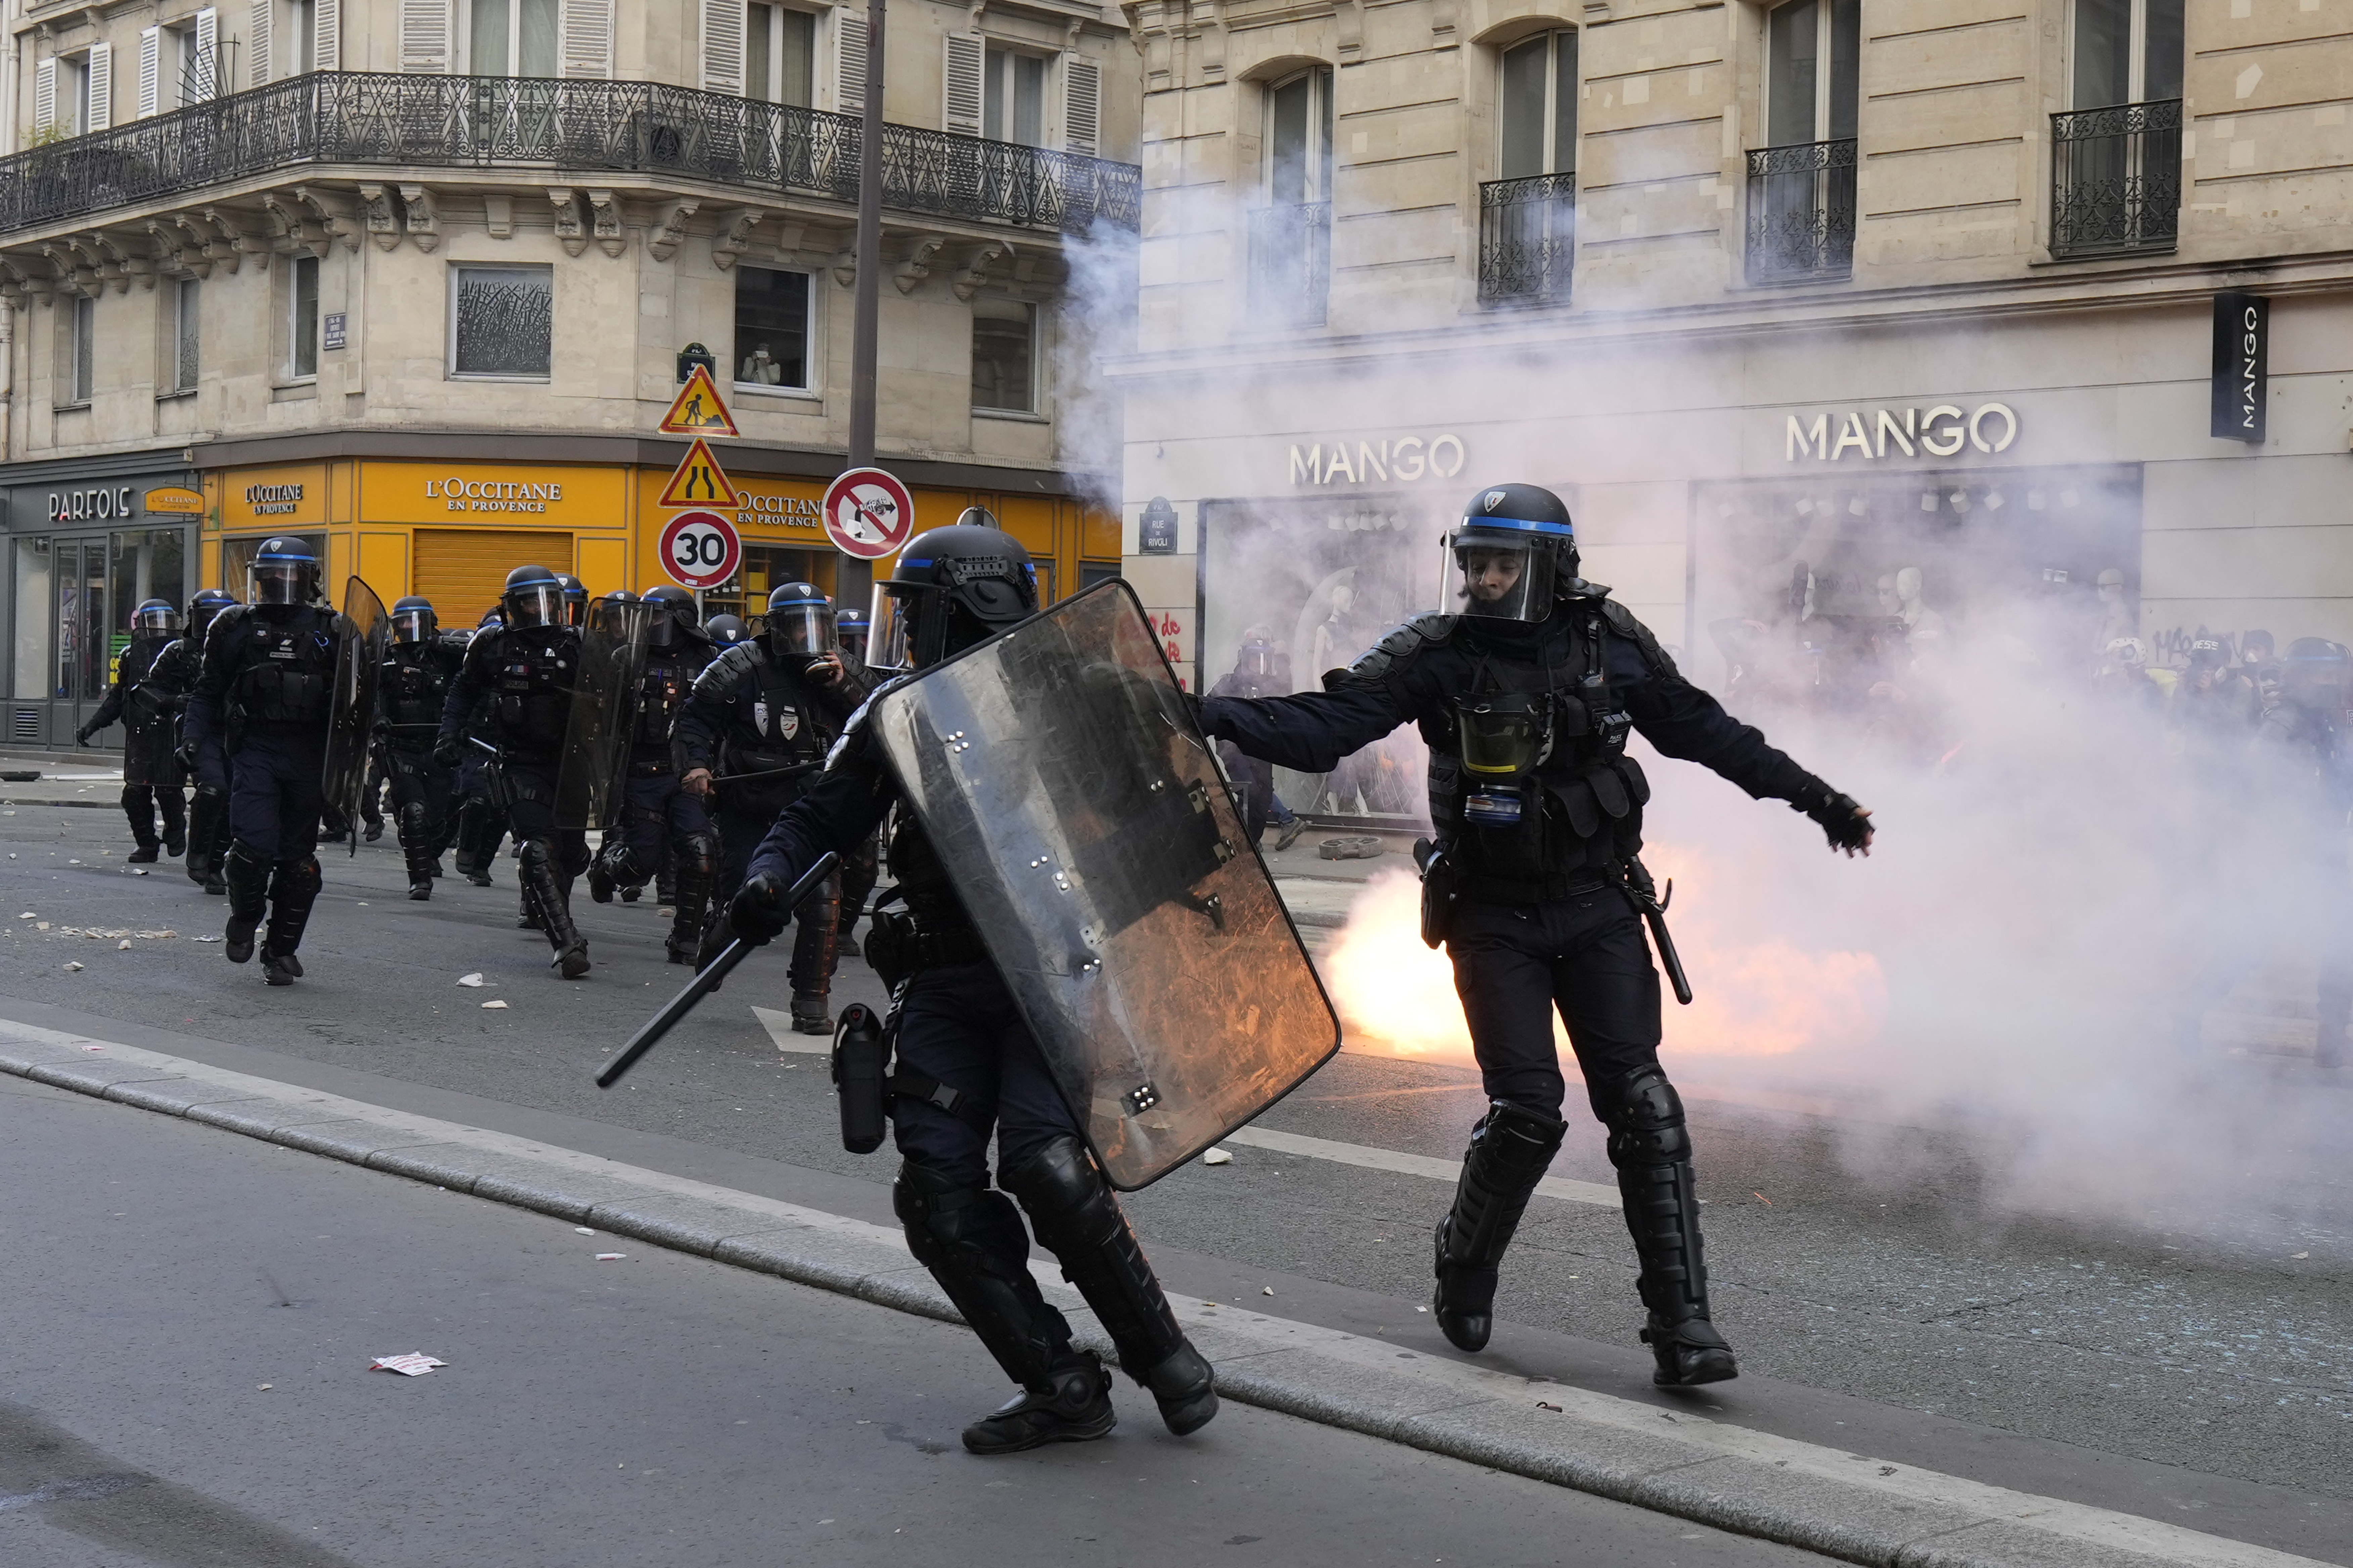
[[[1339,1048],[1127,583],[885,689],[871,722],[1113,1187],[1160,1180]]]

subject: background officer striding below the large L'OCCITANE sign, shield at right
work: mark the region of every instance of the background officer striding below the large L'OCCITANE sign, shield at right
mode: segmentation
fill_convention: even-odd
[[[433,755],[442,766],[456,766],[475,710],[487,708],[487,729],[499,748],[492,804],[504,795],[522,844],[522,898],[555,947],[553,969],[576,980],[588,973],[588,938],[572,924],[572,879],[588,870],[588,835],[555,825],[555,773],[572,719],[581,635],[565,623],[565,585],[546,567],[508,571],[499,604],[504,625],[473,639],[449,682]],[[487,858],[478,856],[475,870],[487,875]]]

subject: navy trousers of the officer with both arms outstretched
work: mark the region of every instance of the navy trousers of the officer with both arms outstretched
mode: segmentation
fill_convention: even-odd
[[[1614,1084],[1659,1063],[1659,971],[1642,917],[1619,889],[1539,905],[1466,898],[1454,905],[1447,957],[1489,1100],[1560,1114],[1567,1081],[1553,1009],[1595,1117]]]

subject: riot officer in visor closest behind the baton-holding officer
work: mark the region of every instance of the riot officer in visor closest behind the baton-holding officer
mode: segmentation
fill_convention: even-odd
[[[866,682],[845,670],[833,646],[833,604],[812,583],[774,588],[760,635],[696,677],[678,715],[678,771],[687,790],[718,799],[713,898],[727,900],[744,884],[760,835],[800,799],[864,693]],[[802,1034],[833,1030],[840,898],[835,875],[800,910],[791,985],[793,1027]],[[706,947],[715,952],[725,940],[725,919],[713,922]]]

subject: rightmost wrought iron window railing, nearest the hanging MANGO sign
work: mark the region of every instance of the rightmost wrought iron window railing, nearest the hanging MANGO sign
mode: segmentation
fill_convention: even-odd
[[[2052,256],[2174,249],[2181,99],[2052,115]]]

